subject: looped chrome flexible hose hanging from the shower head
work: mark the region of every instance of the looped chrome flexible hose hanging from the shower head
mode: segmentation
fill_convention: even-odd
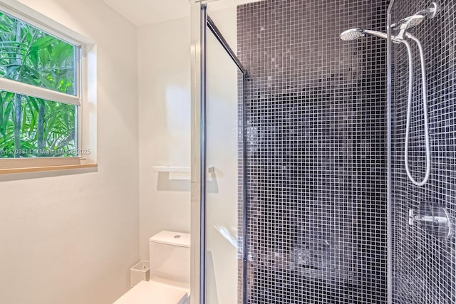
[[[407,108],[407,127],[405,130],[405,171],[407,172],[408,178],[413,184],[417,186],[423,186],[427,183],[427,180],[430,176],[430,140],[429,140],[429,125],[427,122],[427,81],[426,81],[426,66],[425,66],[425,56],[423,51],[423,46],[421,46],[418,38],[413,36],[410,33],[406,33],[406,36],[413,41],[415,41],[420,50],[420,61],[421,61],[421,77],[422,80],[422,90],[423,90],[423,115],[424,115],[424,128],[425,128],[425,151],[426,151],[426,173],[425,177],[421,182],[417,182],[412,174],[410,173],[410,168],[408,167],[408,140],[410,138],[410,117],[412,116],[412,91],[413,91],[413,58],[412,58],[412,48],[408,41],[401,41],[404,43],[408,51],[408,108]]]

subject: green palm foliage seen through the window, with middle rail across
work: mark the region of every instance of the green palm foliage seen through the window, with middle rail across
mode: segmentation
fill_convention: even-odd
[[[77,54],[78,46],[0,12],[0,158],[77,156]],[[11,83],[17,90],[6,90]]]

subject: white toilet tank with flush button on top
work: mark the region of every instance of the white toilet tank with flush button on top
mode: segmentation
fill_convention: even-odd
[[[150,280],[190,286],[190,234],[161,231],[149,239]]]

